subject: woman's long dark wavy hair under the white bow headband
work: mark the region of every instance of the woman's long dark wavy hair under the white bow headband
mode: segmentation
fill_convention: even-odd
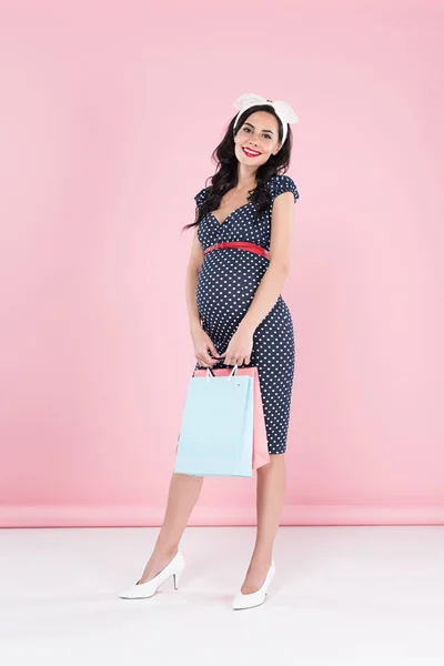
[[[256,104],[255,107],[250,107],[249,109],[245,109],[245,111],[239,117],[239,122],[235,129],[234,115],[226,129],[224,138],[211,155],[212,161],[216,164],[216,172],[214,175],[209,176],[211,181],[211,186],[209,192],[206,193],[205,200],[199,206],[199,213],[196,215],[195,221],[192,224],[185,224],[182,231],[184,231],[185,229],[191,229],[193,226],[199,226],[202,218],[204,218],[211,211],[216,211],[219,209],[219,204],[221,202],[222,196],[238,184],[239,162],[234,152],[234,135],[238,134],[249,115],[255,113],[256,111],[266,111],[266,113],[271,113],[272,115],[274,115],[274,118],[278,120],[279,141],[282,141],[282,122],[279,115],[275,113],[273,107],[269,107],[268,104]],[[266,211],[272,201],[271,192],[265,186],[265,183],[273,175],[282,175],[287,171],[290,165],[290,154],[292,147],[293,135],[289,125],[285,142],[282,145],[282,148],[275,155],[270,155],[268,161],[264,164],[261,164],[261,167],[255,173],[256,186],[254,188],[254,190],[249,190],[248,196],[248,202],[252,203],[255,209],[255,224],[259,222],[259,219],[261,218],[262,213]],[[208,180],[209,179],[206,179],[206,181]]]

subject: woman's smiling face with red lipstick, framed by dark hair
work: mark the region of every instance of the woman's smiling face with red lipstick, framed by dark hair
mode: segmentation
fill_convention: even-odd
[[[242,164],[254,169],[264,164],[279,149],[279,121],[266,111],[251,113],[234,137],[235,157]]]

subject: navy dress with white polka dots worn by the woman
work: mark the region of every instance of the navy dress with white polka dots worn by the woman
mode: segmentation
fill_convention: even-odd
[[[271,178],[268,186],[272,193],[272,202],[256,225],[251,224],[254,219],[252,203],[238,208],[222,223],[212,213],[208,213],[198,229],[202,249],[206,250],[220,242],[248,241],[270,250],[273,202],[283,192],[293,192],[296,201],[299,192],[289,175]],[[204,188],[194,196],[198,206],[204,201],[209,190],[210,188]],[[246,314],[269,264],[264,256],[236,248],[213,250],[204,255],[198,278],[196,302],[202,327],[219,355],[226,350]],[[295,343],[292,316],[281,295],[254,331],[250,366],[258,367],[269,452],[285,453]],[[196,363],[194,371],[200,367]],[[216,367],[228,366],[219,361],[213,365],[213,369]]]

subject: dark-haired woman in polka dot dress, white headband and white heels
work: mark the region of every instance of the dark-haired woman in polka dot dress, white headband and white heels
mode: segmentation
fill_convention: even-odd
[[[291,313],[281,290],[290,268],[299,193],[284,175],[297,122],[285,102],[253,93],[238,98],[239,113],[213,153],[212,184],[194,196],[194,238],[186,272],[186,305],[198,367],[258,367],[270,463],[258,468],[258,532],[233,608],[263,603],[274,575],[274,537],[285,495],[286,434],[295,366]],[[246,248],[214,248],[216,243]],[[178,587],[184,559],[179,543],[203,477],[172,475],[167,512],[140,581],[122,598],[152,596],[169,577]]]

